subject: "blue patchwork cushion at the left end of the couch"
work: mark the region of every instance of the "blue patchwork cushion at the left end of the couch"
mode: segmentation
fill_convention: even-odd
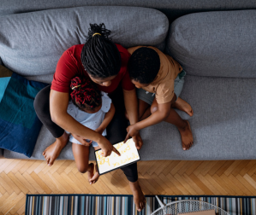
[[[31,157],[42,126],[33,100],[46,85],[0,66],[0,148]]]

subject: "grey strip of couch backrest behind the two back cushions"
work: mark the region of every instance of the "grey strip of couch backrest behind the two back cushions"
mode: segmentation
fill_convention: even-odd
[[[254,0],[16,0],[3,1],[0,15],[27,13],[44,9],[63,9],[80,6],[134,6],[158,9],[170,21],[182,15],[204,11],[256,9]]]

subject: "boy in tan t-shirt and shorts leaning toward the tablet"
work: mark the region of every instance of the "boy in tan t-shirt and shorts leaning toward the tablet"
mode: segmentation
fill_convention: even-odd
[[[188,150],[193,145],[190,125],[173,109],[178,108],[189,116],[193,115],[188,102],[179,97],[185,71],[172,57],[164,55],[157,48],[137,46],[128,49],[128,52],[131,54],[128,72],[138,88],[140,122],[128,126],[125,142],[141,129],[166,121],[176,125],[182,137],[182,148]]]

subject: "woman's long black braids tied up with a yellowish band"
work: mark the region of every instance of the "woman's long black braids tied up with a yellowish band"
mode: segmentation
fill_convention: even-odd
[[[80,54],[80,60],[93,78],[108,78],[116,75],[121,67],[121,55],[110,38],[110,30],[104,23],[90,24],[86,44]]]

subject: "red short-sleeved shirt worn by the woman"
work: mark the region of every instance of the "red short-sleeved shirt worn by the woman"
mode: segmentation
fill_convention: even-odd
[[[56,72],[54,73],[53,80],[51,82],[51,90],[59,92],[69,92],[71,79],[76,76],[88,76],[85,68],[80,61],[80,53],[84,44],[74,45],[71,48],[64,51],[60,60],[57,62]],[[116,90],[118,84],[121,82],[122,89],[134,90],[134,84],[131,82],[127,66],[130,54],[127,49],[124,49],[122,45],[116,44],[117,49],[120,52],[122,65],[116,78],[111,80],[111,84],[108,87],[98,85],[98,89],[106,93],[110,93]]]

